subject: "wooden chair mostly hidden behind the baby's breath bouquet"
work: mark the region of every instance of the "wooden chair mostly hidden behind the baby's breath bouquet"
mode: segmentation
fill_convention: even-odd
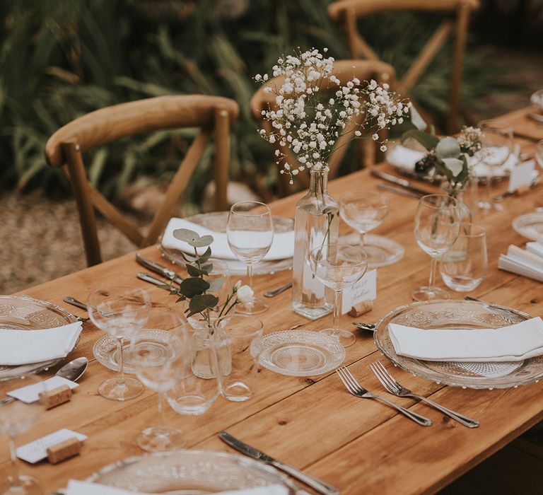
[[[348,81],[351,81],[351,79],[353,79],[354,77],[357,77],[361,81],[369,81],[370,79],[375,79],[375,81],[378,82],[390,83],[391,86],[393,86],[395,82],[395,71],[392,66],[390,66],[389,64],[385,64],[385,62],[379,62],[374,60],[339,60],[334,62],[334,70],[332,71],[332,74],[339,79],[341,85],[344,85]],[[262,117],[262,110],[268,110],[268,108],[276,108],[276,95],[274,95],[274,93],[264,93],[264,88],[266,86],[275,86],[279,88],[280,86],[282,86],[283,83],[284,77],[282,76],[271,78],[269,83],[259,88],[258,91],[251,98],[250,105],[252,116],[254,117],[257,124],[259,124],[259,127],[266,129],[267,133],[271,132],[271,124],[267,120],[264,120],[264,118]],[[327,79],[322,79],[320,91],[322,93],[335,92],[337,91],[337,85],[329,85]],[[337,174],[339,163],[341,163],[341,159],[344,157],[348,148],[348,146],[344,145],[348,143],[349,139],[351,139],[351,136],[346,134],[338,139],[335,146],[336,151],[332,153],[332,156],[328,162],[329,177],[334,177],[334,175]],[[365,155],[363,161],[366,164],[373,163],[373,141],[363,139],[361,140],[361,142],[366,145],[363,146],[363,152],[361,152]],[[278,141],[276,141],[273,146],[274,149],[279,149],[281,153],[284,153],[287,156],[287,160],[289,163],[296,163],[296,159],[293,158],[291,151],[287,147],[280,146]],[[279,172],[281,170],[280,165],[278,165],[278,169]],[[278,175],[279,195],[281,197],[284,197],[292,192],[292,188],[288,184],[290,177],[288,177],[288,175],[286,174]],[[296,182],[298,182],[300,185],[307,187],[309,185],[309,174],[300,173],[296,175]]]

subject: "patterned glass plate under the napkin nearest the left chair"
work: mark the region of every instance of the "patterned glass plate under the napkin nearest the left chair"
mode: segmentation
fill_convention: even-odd
[[[228,221],[228,211],[214,211],[213,213],[202,213],[194,216],[187,216],[185,219],[192,223],[197,223],[202,227],[209,228],[210,231],[226,233],[226,222]],[[274,228],[276,233],[288,232],[294,228],[292,219],[284,219],[279,216],[274,216]],[[213,248],[213,246],[211,246]],[[185,266],[185,260],[179,250],[164,248],[162,243],[158,242],[158,249],[162,255],[175,264]],[[230,275],[245,275],[247,268],[245,263],[238,260],[223,260],[228,264],[228,271]],[[253,266],[252,272],[255,275],[266,275],[275,272],[281,272],[281,270],[287,270],[292,268],[292,258],[286,258],[284,260],[270,260],[261,261]]]

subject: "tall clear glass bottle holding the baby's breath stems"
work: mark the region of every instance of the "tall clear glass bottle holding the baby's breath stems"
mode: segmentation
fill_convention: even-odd
[[[316,320],[333,308],[333,291],[318,281],[311,271],[311,250],[337,242],[339,205],[327,193],[327,171],[311,172],[308,193],[296,205],[294,216],[294,260],[292,308],[299,315]]]

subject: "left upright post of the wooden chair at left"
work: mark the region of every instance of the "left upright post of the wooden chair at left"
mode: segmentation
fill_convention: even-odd
[[[93,264],[102,262],[102,255],[100,253],[100,243],[98,242],[94,207],[88,195],[87,176],[83,167],[83,158],[81,158],[79,145],[74,142],[62,144],[62,151],[66,158],[71,185],[74,188],[74,195],[76,197],[87,264],[89,267],[92,267]]]

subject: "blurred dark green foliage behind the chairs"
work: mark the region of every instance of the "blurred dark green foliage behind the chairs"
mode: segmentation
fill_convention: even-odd
[[[100,107],[173,93],[236,100],[230,177],[266,199],[274,191],[271,148],[249,111],[257,86],[292,47],[328,47],[346,58],[344,33],[327,17],[329,0],[3,0],[0,2],[0,187],[65,195],[69,184],[49,170],[47,138],[66,122]],[[363,21],[366,40],[399,76],[439,23],[433,16],[387,15]],[[477,110],[483,96],[510,89],[506,66],[484,64],[489,49],[470,37],[462,104]],[[414,88],[431,114],[448,111],[450,45]],[[88,174],[108,197],[141,177],[168,180],[190,132],[127,139],[88,158]],[[187,199],[195,203],[210,175],[211,149]],[[344,171],[349,170],[346,163]],[[196,207],[196,205],[194,205]]]

